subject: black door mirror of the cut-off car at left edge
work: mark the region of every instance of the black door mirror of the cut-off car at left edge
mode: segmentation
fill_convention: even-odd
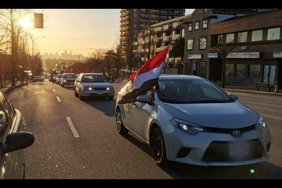
[[[31,146],[34,142],[34,135],[30,132],[12,132],[6,137],[3,143],[3,154],[21,150]]]

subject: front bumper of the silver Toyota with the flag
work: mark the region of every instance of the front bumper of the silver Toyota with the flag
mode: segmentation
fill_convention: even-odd
[[[268,128],[244,132],[240,139],[229,133],[199,132],[190,135],[171,122],[162,126],[167,159],[199,166],[233,166],[264,162],[269,158],[271,137]],[[249,143],[249,155],[230,154],[230,144]]]

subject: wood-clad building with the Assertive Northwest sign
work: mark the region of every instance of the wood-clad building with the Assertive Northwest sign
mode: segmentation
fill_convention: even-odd
[[[282,9],[265,11],[211,25],[210,53],[218,53],[219,39],[234,41],[225,60],[225,85],[254,86],[255,82],[274,85],[282,82]],[[210,80],[220,80],[222,55],[210,58]],[[282,88],[281,85],[279,88]]]

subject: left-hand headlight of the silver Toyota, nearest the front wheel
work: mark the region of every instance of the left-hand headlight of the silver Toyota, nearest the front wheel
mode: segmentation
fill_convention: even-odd
[[[172,124],[179,128],[182,131],[185,131],[191,135],[196,135],[197,133],[204,131],[204,128],[199,126],[199,125],[195,125],[194,123],[190,123],[190,122],[185,122],[183,120],[178,120],[178,119],[171,119],[170,122],[172,122]]]

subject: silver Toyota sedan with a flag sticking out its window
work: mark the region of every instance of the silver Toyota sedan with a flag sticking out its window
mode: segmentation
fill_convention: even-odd
[[[131,84],[117,95],[116,124],[149,146],[155,162],[167,160],[200,166],[264,162],[271,137],[263,117],[210,81],[188,75],[161,75],[159,86],[118,104]]]

